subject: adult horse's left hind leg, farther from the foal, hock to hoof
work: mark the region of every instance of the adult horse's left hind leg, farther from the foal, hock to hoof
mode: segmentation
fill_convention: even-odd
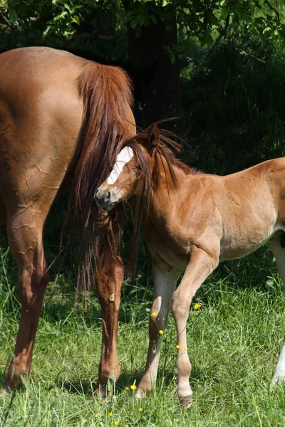
[[[7,233],[11,252],[18,265],[21,320],[4,392],[14,389],[21,382],[21,375],[28,376],[31,369],[38,317],[48,284],[43,255],[43,223],[46,215],[47,211],[43,212],[40,205],[9,212]]]

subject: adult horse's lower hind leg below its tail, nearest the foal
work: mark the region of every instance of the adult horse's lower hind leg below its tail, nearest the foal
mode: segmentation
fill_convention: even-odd
[[[108,386],[115,383],[120,375],[120,360],[117,349],[118,315],[120,307],[120,290],[123,283],[123,263],[118,258],[117,263],[98,265],[96,274],[97,291],[99,295],[103,336],[101,359],[99,365],[98,394],[108,396]],[[109,390],[111,391],[111,390]]]

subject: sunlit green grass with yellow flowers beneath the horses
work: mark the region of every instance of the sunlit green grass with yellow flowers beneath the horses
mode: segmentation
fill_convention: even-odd
[[[15,265],[1,251],[0,381],[11,357],[19,302],[11,278]],[[175,394],[175,325],[164,344],[155,390],[137,403],[147,351],[150,275],[124,284],[118,347],[122,374],[112,399],[93,399],[100,359],[100,310],[90,295],[88,313],[74,310],[70,283],[62,276],[46,294],[31,379],[9,399],[0,399],[0,426],[284,426],[285,396],[270,381],[285,331],[285,298],[271,253],[224,264],[197,292],[188,322],[194,403],[180,408]],[[202,307],[194,309],[194,303]]]

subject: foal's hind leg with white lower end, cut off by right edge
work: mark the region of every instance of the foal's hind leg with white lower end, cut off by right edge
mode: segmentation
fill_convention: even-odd
[[[285,233],[282,235],[274,236],[274,238],[269,241],[269,245],[271,247],[272,252],[274,253],[276,264],[278,268],[279,275],[283,281],[285,286],[285,247],[284,247],[284,237]],[[281,352],[279,356],[279,360],[276,365],[276,369],[274,371],[274,375],[272,378],[272,382],[276,383],[284,383],[285,382],[285,339],[281,347]]]

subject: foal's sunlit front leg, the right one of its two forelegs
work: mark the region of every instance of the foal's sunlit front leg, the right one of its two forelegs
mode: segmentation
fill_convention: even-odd
[[[192,245],[190,263],[172,297],[172,315],[177,331],[177,396],[183,406],[192,404],[192,389],[189,384],[191,363],[187,353],[186,325],[192,297],[204,280],[218,265],[218,255],[213,257]]]

